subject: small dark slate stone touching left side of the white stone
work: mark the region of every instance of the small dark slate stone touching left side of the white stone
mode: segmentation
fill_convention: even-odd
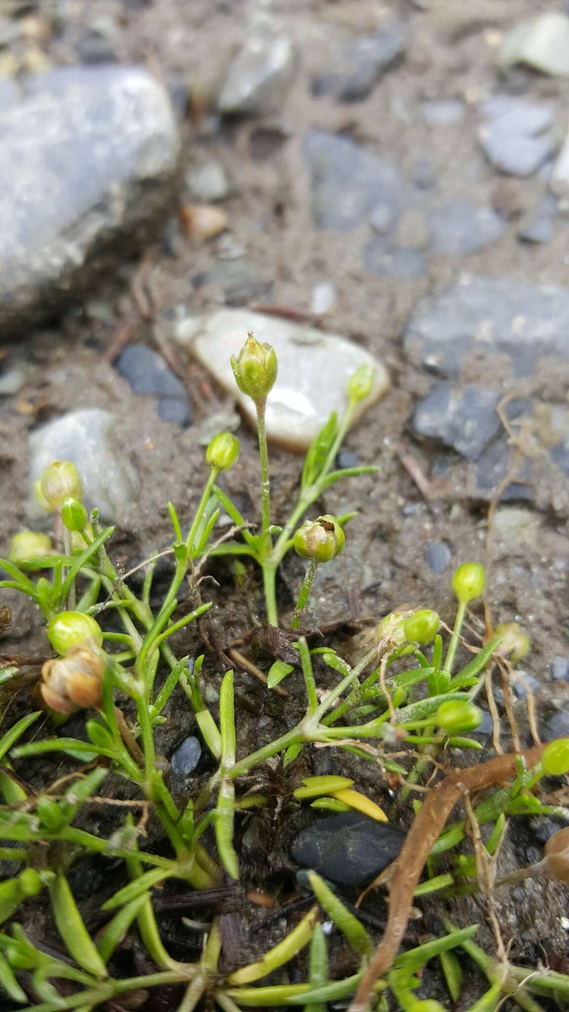
[[[191,425],[191,404],[185,388],[160,355],[142,344],[130,344],[115,364],[134,394],[156,397],[163,421]]]

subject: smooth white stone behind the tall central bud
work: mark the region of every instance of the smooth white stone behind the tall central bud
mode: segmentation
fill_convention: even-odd
[[[370,397],[356,409],[357,417],[389,388],[383,363],[344,337],[247,310],[221,310],[196,320],[190,346],[251,421],[253,402],[238,389],[230,361],[249,330],[276,351],[278,376],[267,400],[266,428],[269,439],[290,449],[306,449],[331,411],[344,412],[347,381],[360,365],[372,365],[376,378]]]

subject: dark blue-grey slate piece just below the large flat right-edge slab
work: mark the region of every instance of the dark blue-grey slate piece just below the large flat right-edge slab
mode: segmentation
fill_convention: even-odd
[[[477,460],[501,428],[494,410],[501,397],[476,384],[437,384],[415,408],[413,429],[417,435],[440,439],[466,460]]]

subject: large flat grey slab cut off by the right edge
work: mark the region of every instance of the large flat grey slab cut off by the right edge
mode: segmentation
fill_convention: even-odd
[[[464,277],[422,300],[404,347],[423,367],[455,375],[474,353],[506,353],[514,374],[532,372],[543,355],[569,359],[569,288]]]

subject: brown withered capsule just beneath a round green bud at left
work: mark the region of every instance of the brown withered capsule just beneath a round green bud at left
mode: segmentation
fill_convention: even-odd
[[[104,658],[84,647],[76,647],[67,657],[47,661],[42,668],[44,701],[58,713],[101,706],[104,669]]]

